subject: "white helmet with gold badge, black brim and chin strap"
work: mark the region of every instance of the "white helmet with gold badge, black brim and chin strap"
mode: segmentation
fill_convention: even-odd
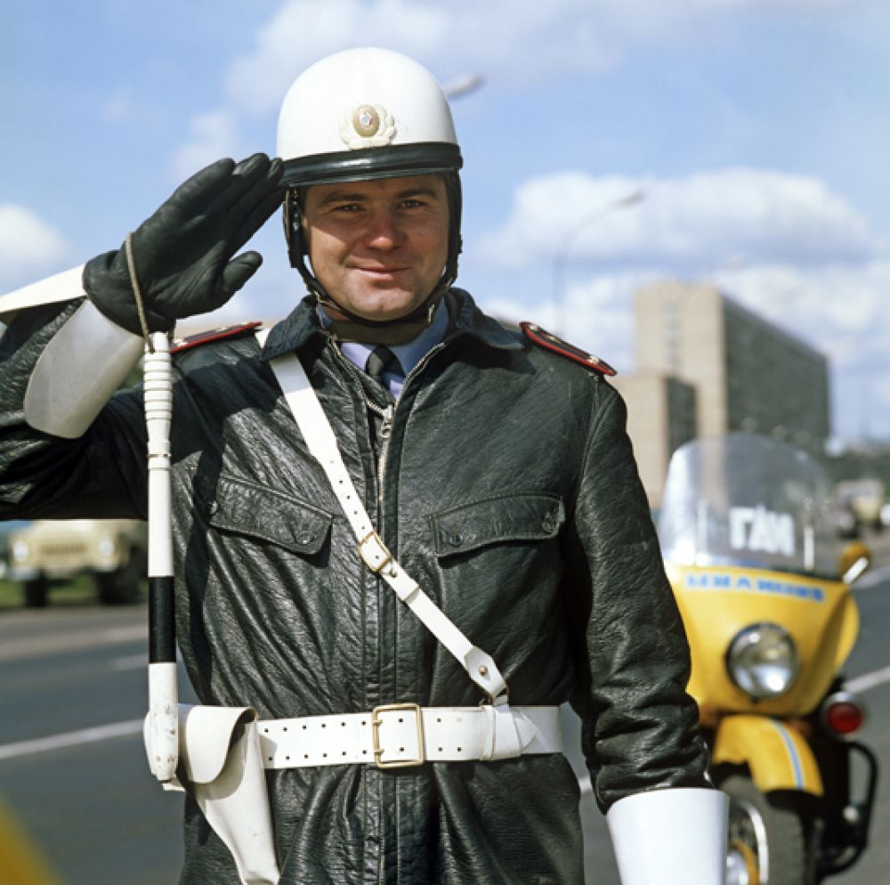
[[[290,261],[322,303],[332,299],[305,264],[302,189],[311,184],[443,175],[449,199],[448,259],[441,280],[416,312],[431,315],[457,277],[461,212],[457,171],[463,165],[448,100],[433,75],[417,61],[388,49],[348,49],[317,61],[287,90],[279,115],[278,156],[284,160],[282,182],[288,188],[285,235]],[[347,315],[368,325],[386,324]]]

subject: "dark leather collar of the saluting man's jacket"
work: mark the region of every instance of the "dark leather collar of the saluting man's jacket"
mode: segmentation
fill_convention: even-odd
[[[459,337],[473,337],[482,345],[497,350],[521,350],[522,344],[513,332],[504,329],[498,321],[482,313],[473,297],[464,289],[452,288],[449,299],[449,315],[453,317],[446,341]],[[322,329],[315,309],[315,298],[305,296],[295,309],[276,323],[263,346],[262,359],[273,360],[284,353],[301,350],[314,337],[328,337]]]

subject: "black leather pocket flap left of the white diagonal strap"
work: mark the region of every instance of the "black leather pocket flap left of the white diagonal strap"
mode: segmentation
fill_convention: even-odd
[[[333,516],[268,486],[221,476],[206,516],[215,528],[238,532],[303,556],[318,553],[328,538]]]

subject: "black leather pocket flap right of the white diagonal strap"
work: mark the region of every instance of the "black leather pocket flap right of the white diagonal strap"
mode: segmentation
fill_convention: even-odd
[[[562,500],[545,492],[471,501],[430,517],[436,556],[511,540],[554,538],[565,522]]]

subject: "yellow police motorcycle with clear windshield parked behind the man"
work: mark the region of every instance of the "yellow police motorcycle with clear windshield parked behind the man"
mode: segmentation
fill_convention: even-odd
[[[730,796],[727,885],[813,885],[868,843],[878,764],[840,668],[870,553],[833,512],[821,467],[756,434],[693,440],[668,467],[659,538]]]

